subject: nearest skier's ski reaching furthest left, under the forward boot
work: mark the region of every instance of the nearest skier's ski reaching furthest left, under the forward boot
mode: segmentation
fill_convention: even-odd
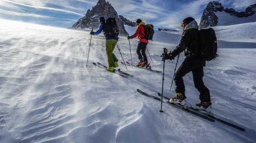
[[[139,92],[140,94],[145,95],[145,96],[147,96],[147,97],[151,97],[151,98],[154,98],[154,99],[156,99],[156,100],[158,100],[158,101],[161,101],[161,98],[155,97],[155,96],[150,95],[150,94],[147,94],[147,93],[145,93],[145,92],[142,92],[140,89],[137,89],[137,92]],[[206,116],[206,115],[199,114],[198,111],[194,111],[194,110],[192,110],[192,109],[190,109],[190,108],[186,108],[185,106],[182,106],[182,105],[179,105],[179,104],[172,104],[172,103],[167,102],[167,101],[163,101],[163,102],[166,103],[166,104],[169,104],[169,105],[171,105],[171,106],[174,106],[174,107],[176,107],[176,108],[179,108],[179,109],[181,109],[181,110],[183,110],[183,111],[187,111],[187,112],[189,112],[189,113],[191,113],[191,114],[197,115],[197,116],[199,116],[199,117],[201,117],[201,118],[204,118],[204,119],[206,119],[206,120],[209,120],[209,121],[211,121],[211,122],[214,122],[214,121],[215,121],[215,120],[213,120],[212,118],[210,118],[210,117],[208,117],[208,116]]]

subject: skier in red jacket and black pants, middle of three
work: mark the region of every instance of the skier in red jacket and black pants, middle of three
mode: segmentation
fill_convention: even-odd
[[[137,66],[148,67],[149,64],[147,62],[147,55],[146,55],[148,40],[145,37],[145,27],[144,27],[145,23],[143,23],[141,19],[137,19],[136,25],[137,25],[136,32],[132,36],[128,36],[127,39],[138,37],[139,43],[138,43],[136,52],[138,55],[139,62]]]

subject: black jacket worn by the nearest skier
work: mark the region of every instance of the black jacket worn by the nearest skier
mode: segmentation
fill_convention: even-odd
[[[183,32],[179,45],[172,51],[171,55],[175,57],[182,51],[184,51],[184,55],[186,56],[184,62],[205,66],[205,60],[199,56],[200,37],[197,28],[189,28]]]

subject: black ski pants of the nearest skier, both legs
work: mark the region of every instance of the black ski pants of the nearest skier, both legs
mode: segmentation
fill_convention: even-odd
[[[194,65],[183,62],[179,69],[177,69],[174,77],[176,89],[175,92],[185,94],[185,85],[183,77],[192,71],[194,87],[200,92],[199,99],[204,102],[211,101],[209,89],[204,85],[204,67],[203,65]]]

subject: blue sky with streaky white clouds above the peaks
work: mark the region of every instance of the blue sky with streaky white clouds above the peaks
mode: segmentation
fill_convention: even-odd
[[[185,17],[198,23],[212,0],[108,0],[119,15],[131,21],[141,18],[156,28],[180,29]],[[256,0],[216,0],[223,7],[244,11]],[[62,28],[71,27],[98,0],[0,0],[0,18]]]

